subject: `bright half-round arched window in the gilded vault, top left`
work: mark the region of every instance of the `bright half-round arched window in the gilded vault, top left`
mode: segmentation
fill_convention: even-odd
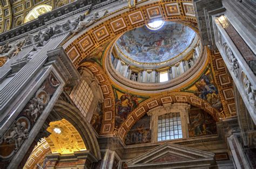
[[[24,23],[30,22],[33,19],[38,18],[39,15],[42,15],[46,12],[49,12],[52,10],[52,6],[50,5],[38,5],[35,8],[33,8],[28,15],[26,15],[24,19]]]

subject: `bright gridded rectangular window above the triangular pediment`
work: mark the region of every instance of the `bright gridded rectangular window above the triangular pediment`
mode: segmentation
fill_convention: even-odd
[[[181,119],[178,112],[158,117],[158,141],[182,137]]]

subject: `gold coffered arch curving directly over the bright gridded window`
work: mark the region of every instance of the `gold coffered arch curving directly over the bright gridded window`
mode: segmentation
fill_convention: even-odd
[[[169,94],[152,97],[149,100],[140,103],[139,107],[130,112],[126,120],[122,123],[122,125],[120,125],[120,128],[117,131],[117,136],[120,136],[124,141],[124,136],[126,136],[127,132],[129,132],[132,126],[140,118],[142,118],[147,111],[166,103],[188,103],[194,105],[195,107],[205,110],[214,118],[216,122],[219,122],[219,117],[221,117],[220,112],[217,109],[213,108],[211,104],[207,103],[198,96],[186,92],[172,92]]]

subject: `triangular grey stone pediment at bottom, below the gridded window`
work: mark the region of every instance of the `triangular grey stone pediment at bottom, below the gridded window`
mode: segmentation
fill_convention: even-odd
[[[126,164],[129,168],[208,168],[213,163],[214,153],[164,143]]]

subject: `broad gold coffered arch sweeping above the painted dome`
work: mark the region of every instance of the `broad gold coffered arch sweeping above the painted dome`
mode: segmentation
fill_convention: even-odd
[[[169,10],[172,5],[177,10],[176,12]],[[149,23],[151,19],[161,18],[165,21],[180,22],[190,26],[198,33],[194,11],[187,11],[187,6],[189,5],[193,9],[193,4],[189,0],[184,2],[179,2],[178,0],[173,2],[147,1],[140,3],[134,9],[127,7],[100,18],[100,20],[80,33],[72,34],[63,43],[63,47],[73,64],[78,67],[79,63],[98,46],[112,40],[113,37],[120,36],[126,31]],[[150,10],[155,10],[158,16],[151,16]],[[123,26],[116,27],[114,23],[118,22],[119,25]]]

